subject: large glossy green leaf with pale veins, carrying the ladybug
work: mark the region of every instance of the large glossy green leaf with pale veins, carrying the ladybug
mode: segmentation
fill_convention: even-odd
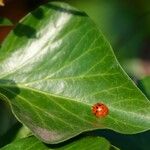
[[[58,143],[94,129],[150,129],[150,102],[91,19],[64,3],[27,15],[0,49],[0,93],[38,138]],[[97,118],[92,106],[109,114]]]

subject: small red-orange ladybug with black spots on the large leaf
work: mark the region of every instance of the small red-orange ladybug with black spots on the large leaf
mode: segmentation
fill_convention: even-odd
[[[103,103],[96,103],[92,106],[92,113],[98,118],[105,117],[108,115],[109,109]]]

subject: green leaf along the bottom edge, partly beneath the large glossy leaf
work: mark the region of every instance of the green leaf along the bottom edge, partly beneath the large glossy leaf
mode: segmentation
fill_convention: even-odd
[[[117,150],[116,147],[111,146],[106,139],[101,137],[86,137],[59,148],[57,146],[53,147],[51,145],[46,146],[34,136],[31,136],[17,140],[1,148],[1,150]]]

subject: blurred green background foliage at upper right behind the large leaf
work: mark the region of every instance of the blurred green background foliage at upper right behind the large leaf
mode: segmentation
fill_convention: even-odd
[[[149,1],[66,1],[84,10],[96,22],[121,61],[138,57],[144,40],[150,38]]]

